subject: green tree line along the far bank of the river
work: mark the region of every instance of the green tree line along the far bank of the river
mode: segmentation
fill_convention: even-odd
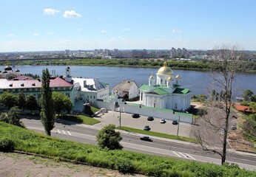
[[[67,60],[37,60],[17,62],[19,65],[84,65],[84,66],[128,66],[128,67],[161,67],[164,60],[161,59],[102,59],[102,58],[84,58],[84,59],[67,59]],[[172,68],[180,69],[199,69],[215,70],[216,65],[213,60],[167,60],[167,65]],[[246,71],[256,71],[256,62],[240,60],[240,65],[246,67]]]

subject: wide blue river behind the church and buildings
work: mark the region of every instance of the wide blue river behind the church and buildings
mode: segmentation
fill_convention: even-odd
[[[41,76],[43,69],[49,69],[50,74],[55,70],[55,74],[64,75],[67,66],[18,66],[21,74],[31,73]],[[13,69],[14,70],[14,69]],[[153,72],[154,76],[158,69],[150,68],[127,68],[112,66],[70,66],[73,77],[96,78],[101,82],[110,83],[110,89],[121,80],[135,80],[138,86],[148,83],[148,78]],[[192,94],[208,94],[211,72],[198,72],[186,70],[173,70],[175,76],[181,75],[182,86],[192,91]],[[235,82],[235,94],[240,96],[246,89],[251,89],[256,94],[256,74],[239,74]]]

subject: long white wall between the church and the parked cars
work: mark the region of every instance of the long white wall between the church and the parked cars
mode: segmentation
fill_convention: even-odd
[[[115,111],[115,104],[111,102],[97,101],[99,108],[106,108],[107,110]],[[149,108],[137,104],[121,104],[119,103],[121,111],[129,114],[141,114],[144,116],[150,116],[161,119],[177,120],[180,118],[180,122],[186,122],[192,124],[192,114],[174,112],[169,109],[161,108]]]

